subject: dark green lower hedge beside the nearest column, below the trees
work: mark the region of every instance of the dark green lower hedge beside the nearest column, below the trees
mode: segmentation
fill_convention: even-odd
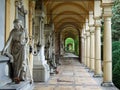
[[[112,43],[113,83],[120,89],[120,42]]]

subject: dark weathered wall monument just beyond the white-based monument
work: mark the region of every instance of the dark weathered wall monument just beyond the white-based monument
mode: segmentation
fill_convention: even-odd
[[[45,24],[45,55],[46,55],[46,60],[50,66],[50,74],[55,74],[56,73],[56,63],[55,63],[55,58],[54,58],[54,50],[53,50],[53,30],[54,27],[52,24]]]

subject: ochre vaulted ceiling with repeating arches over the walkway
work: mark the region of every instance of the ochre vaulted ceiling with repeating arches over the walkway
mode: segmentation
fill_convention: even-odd
[[[45,0],[48,23],[52,21],[55,31],[73,28],[82,30],[89,11],[94,10],[94,0]],[[69,32],[69,31],[68,31]]]

